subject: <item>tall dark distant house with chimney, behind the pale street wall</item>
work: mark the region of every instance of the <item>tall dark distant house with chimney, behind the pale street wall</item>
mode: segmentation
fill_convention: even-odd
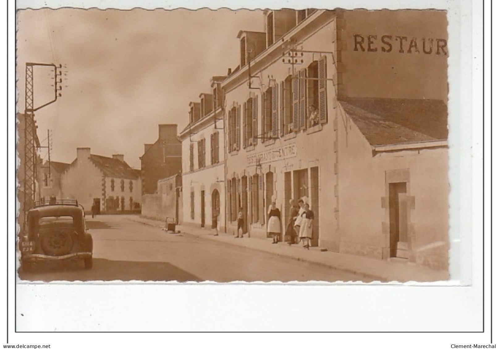
[[[140,157],[142,193],[154,194],[158,180],[182,171],[182,145],[177,138],[177,125],[158,125],[158,139],[144,145]]]

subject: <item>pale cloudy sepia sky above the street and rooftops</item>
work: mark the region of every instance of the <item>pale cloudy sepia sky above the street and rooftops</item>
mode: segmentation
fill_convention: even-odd
[[[77,147],[90,147],[140,168],[158,124],[180,132],[189,102],[239,64],[239,30],[263,24],[260,10],[18,10],[17,111],[24,112],[25,62],[62,64],[62,96],[35,113],[42,146],[51,130],[51,160],[70,163]],[[53,98],[53,73],[34,69],[36,108]],[[46,160],[46,150],[40,156]]]

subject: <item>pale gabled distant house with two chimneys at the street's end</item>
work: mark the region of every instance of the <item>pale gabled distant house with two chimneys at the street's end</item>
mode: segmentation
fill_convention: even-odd
[[[132,169],[122,154],[112,158],[77,148],[76,159],[61,177],[62,198],[77,199],[86,211],[95,204],[100,212],[130,212],[140,208],[140,171]]]

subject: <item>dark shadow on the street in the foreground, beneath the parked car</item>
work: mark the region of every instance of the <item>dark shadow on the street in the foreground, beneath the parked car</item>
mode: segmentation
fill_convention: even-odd
[[[203,281],[166,262],[112,261],[94,258],[92,269],[82,261],[40,262],[32,271],[19,270],[23,281]]]

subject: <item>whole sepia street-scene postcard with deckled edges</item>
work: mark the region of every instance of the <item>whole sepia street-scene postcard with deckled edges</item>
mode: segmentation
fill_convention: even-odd
[[[18,8],[22,294],[466,284],[449,7],[341,4]]]

